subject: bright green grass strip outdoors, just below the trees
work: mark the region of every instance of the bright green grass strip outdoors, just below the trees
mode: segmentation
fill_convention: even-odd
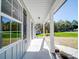
[[[47,33],[46,35],[49,35]],[[78,37],[77,32],[55,32],[55,37]],[[38,34],[37,37],[43,37],[43,34]]]

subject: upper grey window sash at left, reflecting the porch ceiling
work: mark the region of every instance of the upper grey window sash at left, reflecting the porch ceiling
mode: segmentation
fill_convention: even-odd
[[[1,12],[22,21],[22,7],[17,0],[2,0]]]

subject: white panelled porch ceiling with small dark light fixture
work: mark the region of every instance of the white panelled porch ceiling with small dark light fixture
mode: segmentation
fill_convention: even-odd
[[[54,13],[65,0],[23,0],[36,23],[46,21],[50,12]]]

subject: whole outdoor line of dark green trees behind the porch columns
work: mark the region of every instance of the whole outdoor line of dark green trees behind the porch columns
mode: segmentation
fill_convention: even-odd
[[[36,24],[35,26],[37,32],[43,33],[43,24]],[[66,20],[60,20],[58,22],[54,21],[54,32],[66,32],[66,31],[74,31],[78,29],[78,21],[73,20],[72,22]],[[45,32],[50,32],[50,22],[45,23]]]

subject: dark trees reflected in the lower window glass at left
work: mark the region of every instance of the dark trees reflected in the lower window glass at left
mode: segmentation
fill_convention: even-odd
[[[4,21],[2,21],[1,22],[1,28],[2,28],[2,31],[10,31],[10,30],[12,30],[12,31],[18,31],[18,30],[20,30],[19,28],[20,28],[20,24],[19,23],[17,23],[17,22],[4,22]]]

